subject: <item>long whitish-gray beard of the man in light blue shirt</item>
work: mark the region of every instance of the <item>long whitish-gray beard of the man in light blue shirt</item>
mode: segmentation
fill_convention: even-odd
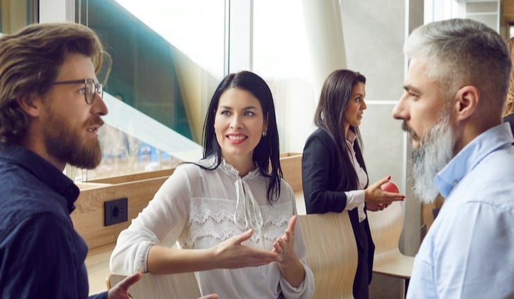
[[[413,162],[412,175],[415,180],[413,191],[423,203],[433,203],[439,193],[433,184],[436,174],[448,164],[453,157],[454,130],[449,117],[424,133],[418,148],[411,153]]]

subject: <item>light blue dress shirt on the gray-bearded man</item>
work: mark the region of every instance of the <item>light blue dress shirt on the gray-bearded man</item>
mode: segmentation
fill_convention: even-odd
[[[445,197],[407,298],[514,298],[514,142],[508,123],[467,144],[434,179]]]

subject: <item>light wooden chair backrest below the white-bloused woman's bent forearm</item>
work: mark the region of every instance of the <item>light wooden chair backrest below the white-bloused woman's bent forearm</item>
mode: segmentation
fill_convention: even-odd
[[[110,289],[126,276],[110,274],[107,277],[107,288]],[[200,298],[200,289],[194,273],[180,273],[168,275],[155,275],[145,273],[141,280],[128,289],[134,299],[197,299]]]

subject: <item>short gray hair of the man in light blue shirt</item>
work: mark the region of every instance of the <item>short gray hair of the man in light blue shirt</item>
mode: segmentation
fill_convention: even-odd
[[[511,59],[503,38],[471,19],[448,19],[416,28],[404,44],[408,60],[426,62],[428,78],[451,96],[465,85],[479,89],[488,105],[503,107]]]

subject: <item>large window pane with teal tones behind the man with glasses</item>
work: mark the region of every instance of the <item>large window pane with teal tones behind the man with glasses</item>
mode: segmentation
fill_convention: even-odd
[[[223,76],[224,1],[77,0],[76,8],[76,19],[96,31],[110,53],[106,93],[201,143],[201,107]],[[101,128],[103,160],[88,171],[88,180],[169,168],[183,160],[151,142],[150,135],[160,130],[135,138],[131,128],[149,126],[135,122],[139,117],[122,115],[124,126],[119,120],[109,126],[109,117],[119,114],[112,104]],[[172,134],[160,138],[176,142]],[[81,172],[76,180],[86,180]]]

